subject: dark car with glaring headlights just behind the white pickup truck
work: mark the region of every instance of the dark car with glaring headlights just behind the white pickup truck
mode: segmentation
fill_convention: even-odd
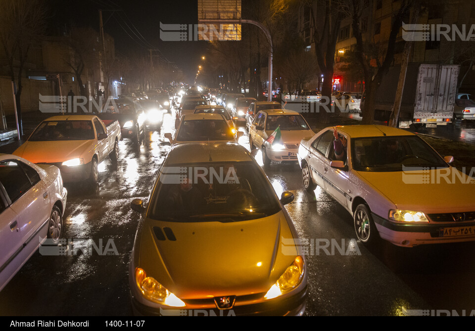
[[[98,115],[103,121],[119,121],[122,138],[129,138],[140,143],[140,137],[145,136],[146,115],[139,101],[117,101],[116,108],[109,107]]]

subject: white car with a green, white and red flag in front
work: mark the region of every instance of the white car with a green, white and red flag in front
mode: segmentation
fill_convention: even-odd
[[[279,127],[281,139],[270,142],[269,137]],[[315,133],[299,113],[287,109],[267,109],[257,113],[249,127],[251,150],[262,151],[262,162],[297,161],[300,141]]]

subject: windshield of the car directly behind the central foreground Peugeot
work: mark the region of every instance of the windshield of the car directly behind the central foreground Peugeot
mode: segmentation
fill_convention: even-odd
[[[234,134],[224,120],[184,121],[179,129],[178,141],[233,140]]]

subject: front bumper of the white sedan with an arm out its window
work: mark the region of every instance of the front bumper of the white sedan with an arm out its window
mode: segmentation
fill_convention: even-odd
[[[372,214],[381,239],[402,247],[414,247],[425,244],[459,243],[475,241],[475,221],[464,223],[426,223],[426,224],[399,224],[391,222],[379,215]],[[461,235],[444,236],[444,229]],[[469,229],[472,229],[469,231]]]

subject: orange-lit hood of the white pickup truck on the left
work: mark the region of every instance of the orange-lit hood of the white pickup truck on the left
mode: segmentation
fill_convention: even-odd
[[[95,140],[26,141],[14,155],[33,163],[59,163],[84,158]],[[87,162],[87,160],[85,160]]]

